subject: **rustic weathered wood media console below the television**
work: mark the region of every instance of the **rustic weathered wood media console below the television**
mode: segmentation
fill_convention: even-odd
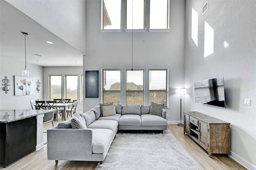
[[[184,134],[212,153],[230,156],[230,123],[197,111],[184,111]]]

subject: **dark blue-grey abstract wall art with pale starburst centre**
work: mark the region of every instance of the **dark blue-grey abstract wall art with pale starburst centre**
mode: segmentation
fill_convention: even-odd
[[[99,97],[99,71],[85,71],[85,97]]]

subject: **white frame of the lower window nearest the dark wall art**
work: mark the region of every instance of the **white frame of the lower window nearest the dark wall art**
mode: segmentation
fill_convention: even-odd
[[[114,70],[118,70],[118,71],[120,71],[120,90],[104,90],[104,71],[114,71]],[[101,76],[101,102],[102,103],[104,103],[104,92],[119,92],[120,93],[120,100],[119,100],[119,102],[116,102],[116,103],[114,103],[113,102],[113,104],[114,105],[119,105],[119,104],[121,104],[121,100],[122,100],[122,98],[121,98],[121,68],[101,68],[101,73],[102,73],[102,76]]]

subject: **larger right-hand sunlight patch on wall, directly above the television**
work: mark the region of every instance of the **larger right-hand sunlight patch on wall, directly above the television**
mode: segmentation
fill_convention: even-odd
[[[214,29],[204,21],[204,57],[211,55],[214,48]]]

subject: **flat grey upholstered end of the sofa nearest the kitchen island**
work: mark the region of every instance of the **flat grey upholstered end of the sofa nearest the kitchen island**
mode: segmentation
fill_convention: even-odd
[[[86,160],[92,158],[92,129],[47,130],[48,160]]]

